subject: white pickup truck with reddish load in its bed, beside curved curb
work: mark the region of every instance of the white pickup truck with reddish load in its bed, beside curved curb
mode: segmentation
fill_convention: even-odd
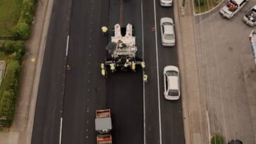
[[[226,5],[220,9],[219,13],[223,15],[224,18],[231,19],[247,2],[248,0],[229,0]]]

